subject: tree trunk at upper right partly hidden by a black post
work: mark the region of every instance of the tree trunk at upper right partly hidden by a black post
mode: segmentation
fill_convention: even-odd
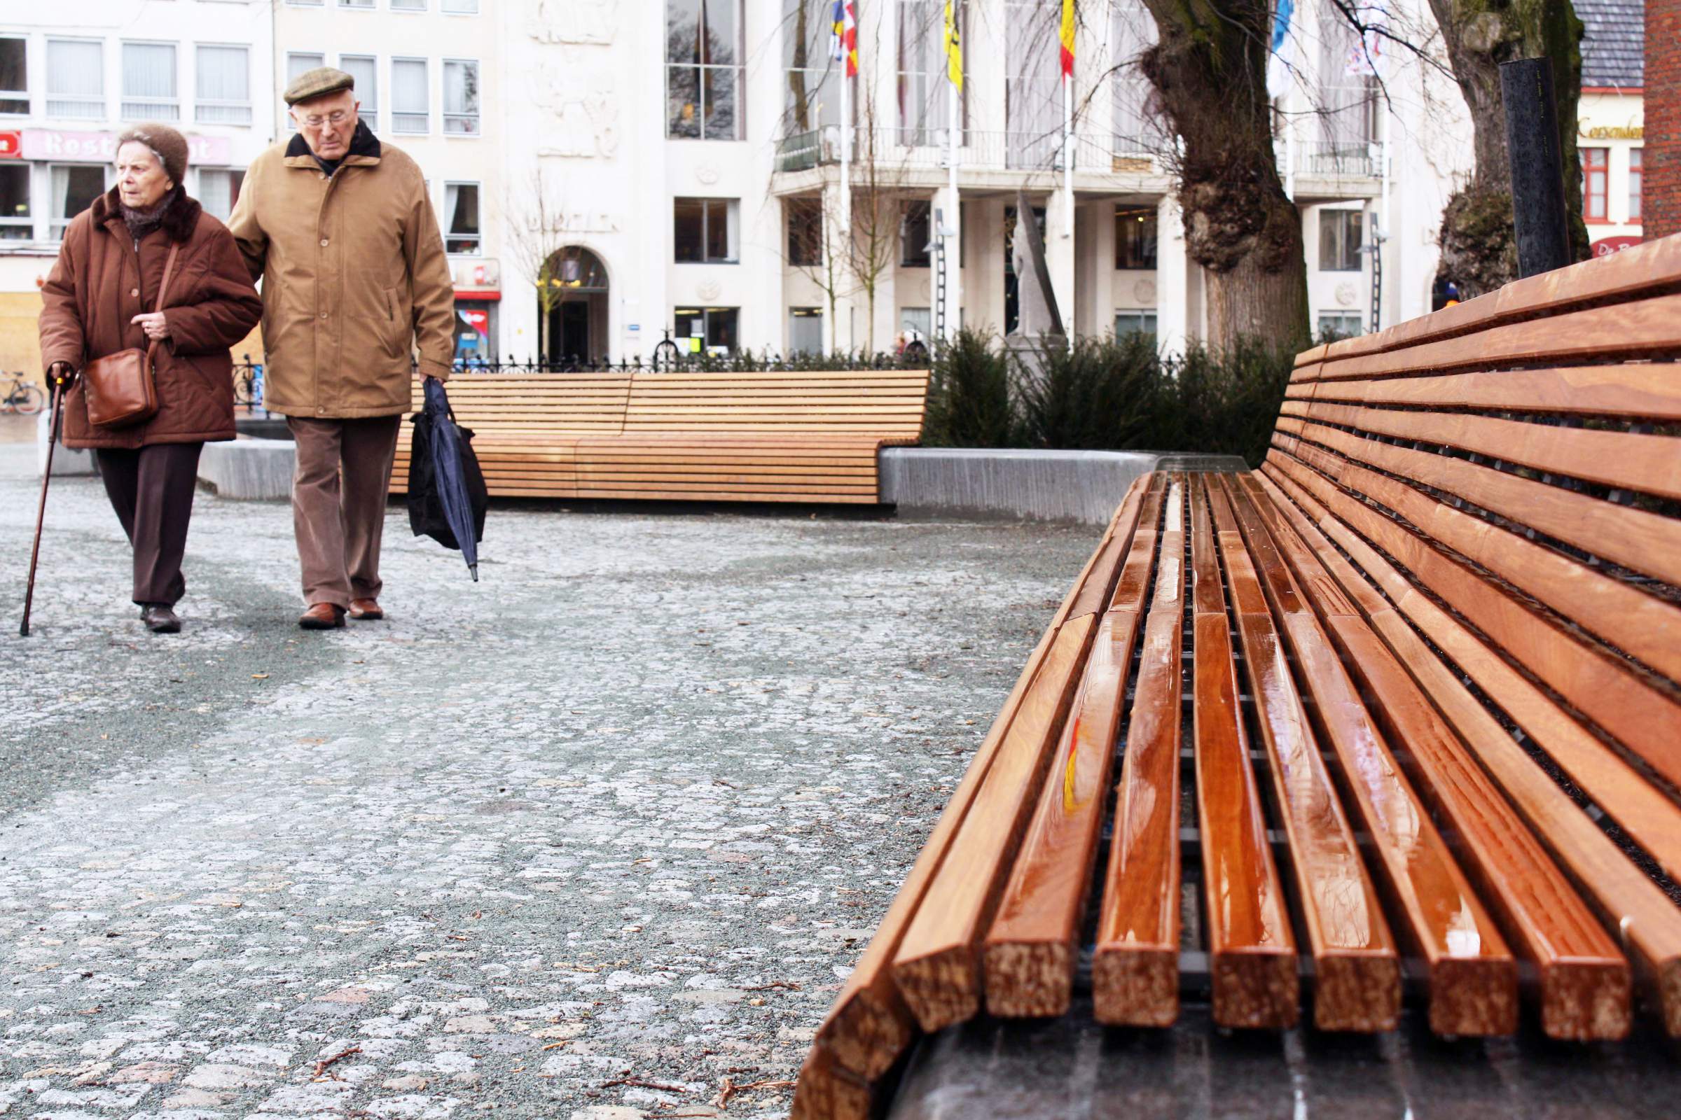
[[[1570,0],[1431,0],[1431,8],[1471,113],[1476,156],[1471,181],[1454,191],[1442,210],[1437,280],[1451,280],[1461,299],[1471,299],[1518,275],[1506,111],[1499,97],[1499,64],[1513,59],[1547,57],[1553,62],[1570,254],[1585,260],[1587,225],[1582,222],[1582,163],[1577,156],[1582,20],[1575,7]]]

